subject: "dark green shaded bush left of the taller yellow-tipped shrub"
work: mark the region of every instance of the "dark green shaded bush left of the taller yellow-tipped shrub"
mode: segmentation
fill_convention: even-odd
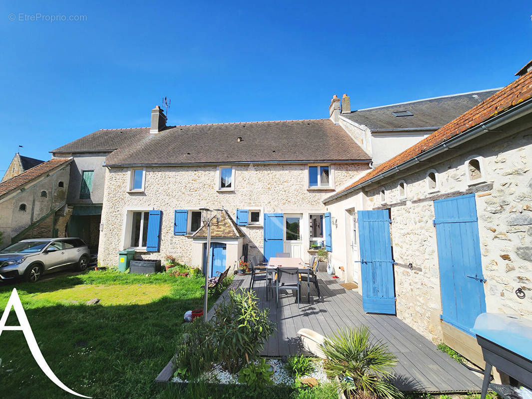
[[[211,368],[217,360],[217,347],[213,336],[214,329],[210,322],[198,317],[189,324],[178,344],[174,364],[176,377],[197,378]]]

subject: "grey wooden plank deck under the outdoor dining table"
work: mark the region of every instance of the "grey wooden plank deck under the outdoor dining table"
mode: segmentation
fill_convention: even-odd
[[[257,282],[254,290],[262,308],[270,308],[270,318],[276,322],[277,332],[264,345],[262,355],[282,356],[304,353],[297,331],[310,328],[328,335],[340,327],[367,325],[371,334],[382,339],[398,358],[394,384],[405,392],[461,393],[479,391],[482,380],[395,316],[370,315],[362,309],[358,292],[346,290],[336,279],[320,273],[322,299],[311,287],[311,301],[307,302],[306,283],[302,284],[302,302],[297,308],[295,293],[283,292],[276,307],[275,298],[266,299],[264,282]],[[235,276],[230,288],[248,288],[249,276]],[[271,292],[270,292],[271,294]],[[224,292],[218,301],[227,295]],[[281,296],[281,294],[279,294]],[[212,317],[213,308],[207,314]]]

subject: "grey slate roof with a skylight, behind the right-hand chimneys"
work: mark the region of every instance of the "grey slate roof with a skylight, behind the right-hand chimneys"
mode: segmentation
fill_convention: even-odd
[[[342,116],[371,130],[440,128],[454,118],[469,111],[500,89],[428,98],[383,107],[360,109]],[[392,112],[410,111],[413,116],[394,116]],[[435,130],[436,130],[435,129]]]

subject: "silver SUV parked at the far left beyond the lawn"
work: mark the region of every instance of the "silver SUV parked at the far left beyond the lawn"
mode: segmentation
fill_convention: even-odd
[[[78,238],[22,240],[0,251],[0,280],[24,277],[36,282],[45,271],[74,265],[85,270],[90,251]]]

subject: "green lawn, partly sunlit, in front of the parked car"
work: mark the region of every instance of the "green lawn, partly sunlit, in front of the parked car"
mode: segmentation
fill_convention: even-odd
[[[204,280],[89,271],[16,287],[44,358],[63,383],[95,398],[166,396],[153,379],[174,354],[185,311],[203,307]],[[97,305],[86,305],[94,298]],[[210,298],[210,304],[215,298]],[[18,325],[11,311],[7,325]],[[0,336],[2,398],[72,398],[50,381],[21,331]]]

